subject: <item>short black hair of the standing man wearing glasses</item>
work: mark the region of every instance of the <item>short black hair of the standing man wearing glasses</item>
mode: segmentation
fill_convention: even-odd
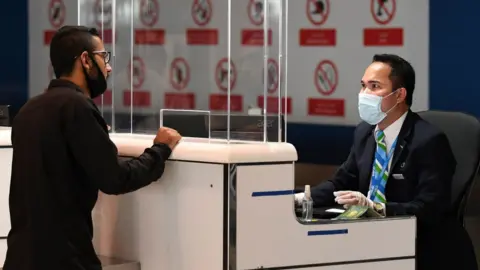
[[[95,28],[63,26],[50,43],[50,62],[57,78],[72,74],[76,57],[94,50],[93,37],[99,37]]]

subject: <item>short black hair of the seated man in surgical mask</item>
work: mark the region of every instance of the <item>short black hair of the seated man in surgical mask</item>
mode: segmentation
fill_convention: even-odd
[[[408,106],[411,106],[413,91],[415,90],[415,70],[412,65],[407,60],[395,54],[376,54],[373,56],[372,62],[382,62],[390,66],[392,71],[389,77],[392,81],[393,89],[405,88],[407,90],[405,102]]]

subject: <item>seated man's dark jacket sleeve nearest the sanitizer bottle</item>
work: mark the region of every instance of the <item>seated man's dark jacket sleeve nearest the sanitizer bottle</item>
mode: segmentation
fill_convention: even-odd
[[[333,178],[312,188],[311,192],[315,206],[329,206],[335,204],[334,191],[358,189],[358,167],[352,147],[347,160],[338,168]]]

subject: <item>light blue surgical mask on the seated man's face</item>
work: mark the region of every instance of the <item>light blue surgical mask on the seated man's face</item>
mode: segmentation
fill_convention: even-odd
[[[382,111],[382,100],[393,93],[395,93],[395,91],[386,95],[385,97],[366,93],[358,94],[358,112],[360,114],[360,118],[370,125],[376,125],[382,122],[382,120],[387,117],[387,114],[398,104],[395,104],[395,106],[390,108],[387,112]]]

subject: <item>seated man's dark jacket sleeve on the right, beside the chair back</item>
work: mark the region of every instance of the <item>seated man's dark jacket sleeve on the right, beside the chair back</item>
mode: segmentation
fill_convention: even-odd
[[[387,202],[386,214],[414,215],[420,223],[435,223],[450,209],[456,160],[444,133],[431,138],[416,151],[419,172],[414,199],[405,203]]]

